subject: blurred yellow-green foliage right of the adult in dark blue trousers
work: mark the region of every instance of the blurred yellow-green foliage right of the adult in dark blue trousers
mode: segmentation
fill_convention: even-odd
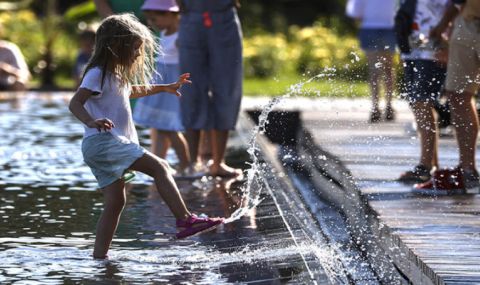
[[[288,38],[288,40],[287,40]],[[259,34],[244,39],[245,76],[271,77],[279,73],[328,73],[344,79],[365,79],[366,61],[358,41],[339,35],[317,22],[293,26],[288,34]]]

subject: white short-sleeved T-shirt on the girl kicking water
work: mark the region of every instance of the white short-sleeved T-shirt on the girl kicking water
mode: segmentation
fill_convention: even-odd
[[[115,125],[110,133],[122,141],[128,140],[138,144],[137,131],[132,119],[130,108],[130,86],[120,87],[120,81],[110,72],[105,74],[103,86],[102,70],[91,68],[85,74],[79,88],[85,88],[98,93],[91,96],[85,103],[85,109],[96,119],[108,118]],[[85,126],[84,138],[98,134],[95,128]]]

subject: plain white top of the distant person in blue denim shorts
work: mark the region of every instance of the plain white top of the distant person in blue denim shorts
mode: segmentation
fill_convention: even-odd
[[[393,28],[396,0],[348,0],[347,15],[360,19],[361,28]]]

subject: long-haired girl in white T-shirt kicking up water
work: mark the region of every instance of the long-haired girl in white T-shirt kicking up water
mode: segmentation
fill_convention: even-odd
[[[70,111],[85,124],[82,154],[103,190],[104,209],[98,220],[94,258],[106,258],[126,203],[127,170],[155,180],[158,193],[177,219],[177,238],[210,230],[223,219],[198,217],[187,209],[168,163],[138,144],[129,98],[158,92],[180,96],[189,74],[171,84],[150,85],[154,54],[159,49],[150,30],[131,14],[106,18],[97,31],[95,49],[82,83],[70,101]],[[132,85],[139,84],[139,85]],[[172,96],[172,95],[161,95]]]

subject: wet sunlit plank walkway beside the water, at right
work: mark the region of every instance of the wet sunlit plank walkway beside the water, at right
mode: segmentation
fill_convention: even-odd
[[[397,120],[368,124],[368,100],[289,99],[316,143],[352,172],[374,213],[373,231],[413,284],[480,284],[480,195],[431,197],[396,182],[418,162],[413,117],[396,102]],[[291,107],[290,107],[291,108]],[[455,166],[454,137],[440,140],[440,164]]]

